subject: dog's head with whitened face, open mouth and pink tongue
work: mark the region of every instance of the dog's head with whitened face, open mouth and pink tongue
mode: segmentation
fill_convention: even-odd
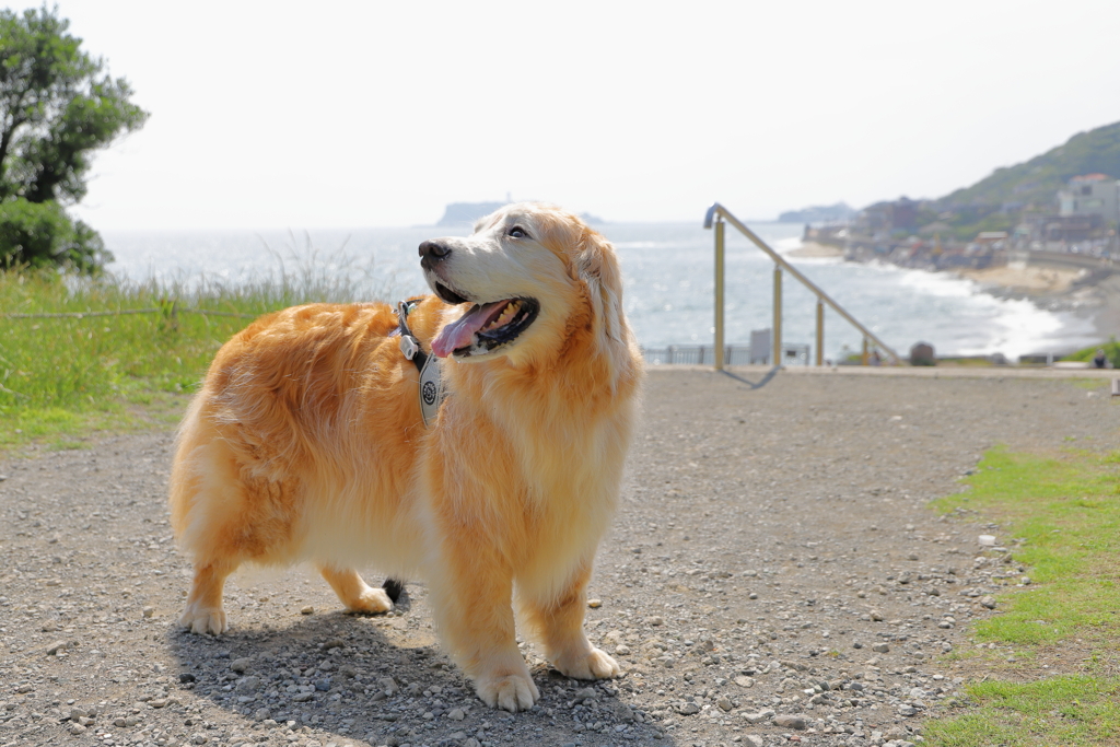
[[[617,355],[631,345],[614,248],[571,213],[507,205],[466,239],[423,242],[420,256],[432,291],[454,306],[432,340],[440,357],[504,355],[516,365],[580,332],[623,348]]]

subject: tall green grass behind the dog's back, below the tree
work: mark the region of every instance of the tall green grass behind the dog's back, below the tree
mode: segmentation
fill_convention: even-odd
[[[0,272],[0,449],[72,448],[99,430],[172,422],[214,353],[252,318],[309,301],[393,297],[391,276],[340,252],[328,259],[308,249],[287,271],[281,264],[237,286]],[[138,309],[156,311],[119,314]],[[101,311],[113,315],[10,316]]]

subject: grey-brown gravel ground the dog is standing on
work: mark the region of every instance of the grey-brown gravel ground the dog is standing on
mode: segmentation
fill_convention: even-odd
[[[541,701],[516,716],[448,663],[421,583],[395,614],[355,617],[307,569],[240,573],[230,634],[178,631],[171,433],[9,459],[0,747],[918,743],[968,674],[939,656],[1029,573],[978,554],[999,527],[926,502],[997,443],[1116,448],[1110,398],[1011,377],[747,379],[762,374],[651,373],[587,622],[625,675],[570,681],[526,645]]]

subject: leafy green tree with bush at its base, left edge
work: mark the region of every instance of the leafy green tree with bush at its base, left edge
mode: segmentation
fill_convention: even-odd
[[[9,264],[37,264],[53,256],[85,270],[96,268],[106,254],[87,225],[50,207],[36,213],[41,220],[31,220],[35,211],[8,204],[78,202],[93,151],[148,119],[129,101],[128,82],[104,74],[104,62],[83,52],[82,39],[67,34],[68,28],[57,7],[0,10],[0,206],[6,206],[0,215],[9,228],[38,226],[31,232],[38,236],[36,245],[48,237],[43,231],[58,232],[49,236],[54,249],[43,254],[7,243],[22,228],[0,231],[0,259]],[[67,249],[54,251],[59,246]]]

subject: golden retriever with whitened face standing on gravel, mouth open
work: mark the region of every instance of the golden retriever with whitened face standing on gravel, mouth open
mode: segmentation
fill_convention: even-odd
[[[420,245],[435,292],[407,329],[441,365],[428,426],[384,304],[311,304],[226,343],[180,427],[172,526],[194,558],[180,623],[227,628],[242,563],[314,562],[348,610],[392,601],[355,570],[427,581],[441,641],[491,706],[539,698],[520,620],[581,680],[619,673],[584,634],[642,379],[614,248],[578,217],[506,206]]]

